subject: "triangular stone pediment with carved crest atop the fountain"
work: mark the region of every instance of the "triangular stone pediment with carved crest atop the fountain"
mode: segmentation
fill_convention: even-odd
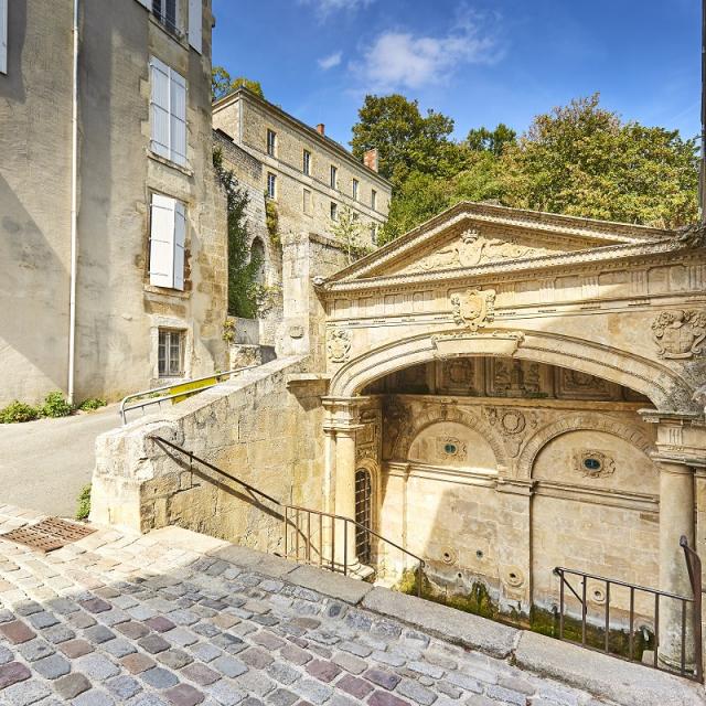
[[[620,223],[461,203],[341,270],[329,281],[541,266],[582,250],[657,243],[668,231]]]

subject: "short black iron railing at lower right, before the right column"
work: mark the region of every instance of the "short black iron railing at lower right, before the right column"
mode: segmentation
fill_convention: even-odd
[[[638,661],[634,655],[634,621],[635,621],[635,592],[649,593],[654,597],[654,651],[652,657],[652,666],[656,670],[661,670],[664,672],[677,672],[680,675],[685,676],[687,678],[703,682],[704,681],[704,664],[703,664],[703,643],[702,643],[702,563],[700,558],[688,546],[688,542],[685,536],[682,536],[680,539],[680,546],[684,549],[686,567],[689,577],[689,584],[692,588],[693,596],[689,598],[687,596],[681,596],[678,593],[673,593],[671,591],[664,591],[656,588],[651,588],[649,586],[640,586],[638,584],[629,584],[628,581],[622,581],[620,579],[608,578],[606,576],[599,576],[597,574],[589,574],[587,571],[579,571],[577,569],[569,569],[563,566],[557,566],[554,568],[554,574],[559,577],[559,640],[567,640],[565,638],[565,609],[566,609],[566,596],[565,588],[568,588],[569,591],[575,596],[581,607],[581,646],[588,649],[591,645],[587,644],[587,625],[588,625],[588,601],[587,601],[587,582],[589,579],[595,581],[600,581],[606,585],[606,595],[605,595],[605,624],[603,624],[603,648],[601,652],[606,654],[610,654],[612,656],[618,656],[621,659],[625,659],[623,655],[611,652],[610,650],[610,593],[611,587],[620,586],[622,588],[628,588],[630,590],[630,608],[629,608],[629,633],[628,633],[628,645],[629,645],[629,656],[628,661],[635,662]],[[579,592],[571,586],[567,576],[575,576],[580,578],[580,595]],[[660,646],[660,599],[672,599],[681,601],[682,606],[682,620],[681,620],[681,659],[680,659],[680,667],[678,670],[671,668],[665,665],[662,666],[659,661],[659,646]],[[687,650],[687,638],[686,638],[686,625],[687,625],[687,606],[692,605],[692,616],[693,616],[693,639],[694,639],[694,660],[695,665],[694,670],[688,670],[686,666],[686,650]],[[569,640],[567,640],[569,641]],[[574,641],[570,641],[574,642]]]

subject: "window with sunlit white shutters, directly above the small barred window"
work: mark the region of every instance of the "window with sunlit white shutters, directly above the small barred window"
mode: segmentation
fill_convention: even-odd
[[[150,211],[150,285],[183,291],[186,206],[152,194]]]

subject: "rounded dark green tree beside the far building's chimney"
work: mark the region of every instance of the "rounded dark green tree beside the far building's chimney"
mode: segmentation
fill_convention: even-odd
[[[440,113],[419,111],[417,100],[399,94],[365,96],[353,126],[353,154],[363,158],[376,148],[379,173],[400,185],[411,172],[448,174],[459,167],[461,153],[449,139],[453,120]]]

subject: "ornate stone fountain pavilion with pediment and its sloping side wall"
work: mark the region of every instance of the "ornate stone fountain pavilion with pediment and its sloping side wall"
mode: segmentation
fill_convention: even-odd
[[[688,597],[680,537],[706,553],[705,285],[703,229],[458,204],[315,280],[311,355],[104,437],[94,516],[282,552],[281,522],[190,480],[159,435],[370,526],[421,557],[442,597],[482,587],[502,613],[550,616],[557,566]],[[356,534],[332,541],[351,567],[387,581],[410,568]],[[586,585],[595,625],[607,590]],[[625,630],[629,591],[613,586],[610,605]],[[654,632],[653,605],[634,609]],[[664,663],[678,662],[681,616],[662,601]]]

